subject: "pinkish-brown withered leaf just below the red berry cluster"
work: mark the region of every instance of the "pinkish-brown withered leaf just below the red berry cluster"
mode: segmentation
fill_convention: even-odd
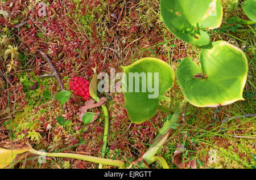
[[[92,98],[90,100],[86,101],[84,106],[81,106],[79,108],[79,111],[80,111],[79,120],[82,121],[82,116],[85,113],[87,113],[88,109],[97,108],[98,106],[101,106],[102,104],[105,104],[106,100],[107,99],[105,97],[101,97],[100,101],[98,101],[96,104],[94,104],[94,100]],[[96,112],[94,114],[93,121],[95,121],[98,118],[98,115],[100,115],[100,112]]]

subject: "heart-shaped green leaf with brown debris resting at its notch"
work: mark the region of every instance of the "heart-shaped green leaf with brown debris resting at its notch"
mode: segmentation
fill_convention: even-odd
[[[241,49],[216,41],[200,53],[201,67],[191,58],[181,61],[177,82],[185,98],[198,107],[216,107],[243,100],[247,78],[247,58]],[[207,75],[197,79],[195,75]]]

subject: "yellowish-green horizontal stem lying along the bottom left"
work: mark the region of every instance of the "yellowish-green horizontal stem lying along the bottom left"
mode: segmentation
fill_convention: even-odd
[[[40,155],[40,156],[75,158],[78,160],[90,161],[90,162],[95,162],[95,163],[99,163],[99,164],[118,166],[120,168],[125,167],[125,162],[119,161],[119,160],[111,160],[111,159],[107,159],[107,158],[80,155],[80,154],[75,154],[75,153],[45,153],[45,152],[36,151],[35,149],[32,149],[30,152],[34,153],[35,155]]]

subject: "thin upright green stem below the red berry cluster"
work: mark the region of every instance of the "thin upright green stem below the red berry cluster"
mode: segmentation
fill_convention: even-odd
[[[101,151],[101,157],[104,158],[106,153],[106,145],[108,143],[108,135],[109,135],[109,112],[106,105],[101,105],[101,108],[104,112],[104,118],[105,118],[103,145],[102,145],[102,151]],[[102,164],[98,165],[98,169],[102,169]]]

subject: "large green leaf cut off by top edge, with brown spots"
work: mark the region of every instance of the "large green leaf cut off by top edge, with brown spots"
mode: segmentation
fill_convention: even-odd
[[[203,46],[210,43],[210,37],[201,28],[221,25],[222,5],[220,0],[160,0],[160,14],[175,36]]]

